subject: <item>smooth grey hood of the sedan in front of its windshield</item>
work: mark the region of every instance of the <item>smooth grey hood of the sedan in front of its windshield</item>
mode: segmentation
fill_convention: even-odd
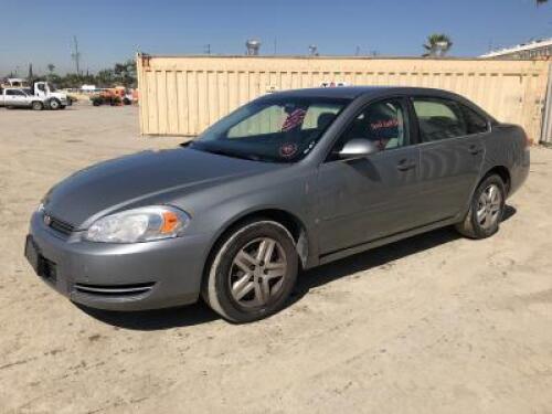
[[[282,164],[190,148],[145,151],[70,176],[49,191],[43,205],[47,214],[75,229],[84,229],[92,220],[110,212],[148,202],[169,202],[174,194],[183,195],[277,168]],[[163,200],[163,195],[168,200]]]

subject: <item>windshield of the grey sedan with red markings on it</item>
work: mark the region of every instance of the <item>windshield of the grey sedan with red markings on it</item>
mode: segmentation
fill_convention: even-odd
[[[349,99],[282,97],[252,102],[224,117],[190,148],[267,162],[296,162],[315,148]]]

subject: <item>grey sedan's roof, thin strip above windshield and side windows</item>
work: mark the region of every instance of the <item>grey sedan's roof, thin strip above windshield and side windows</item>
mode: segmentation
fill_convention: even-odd
[[[458,97],[458,95],[428,87],[411,86],[336,86],[336,87],[312,87],[305,89],[290,89],[264,95],[264,97],[319,97],[319,98],[342,98],[354,99],[360,96],[380,96],[386,94],[400,95],[426,95]]]

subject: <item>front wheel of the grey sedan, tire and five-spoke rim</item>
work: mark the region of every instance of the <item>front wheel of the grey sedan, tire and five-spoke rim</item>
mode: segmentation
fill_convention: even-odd
[[[298,272],[295,242],[286,227],[268,220],[248,222],[217,246],[202,287],[203,299],[215,312],[245,323],[284,307]]]

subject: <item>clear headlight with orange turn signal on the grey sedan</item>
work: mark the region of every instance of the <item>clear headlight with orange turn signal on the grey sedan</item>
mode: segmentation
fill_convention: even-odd
[[[106,215],[94,222],[84,238],[99,243],[137,243],[178,237],[190,216],[167,205],[152,205]]]

